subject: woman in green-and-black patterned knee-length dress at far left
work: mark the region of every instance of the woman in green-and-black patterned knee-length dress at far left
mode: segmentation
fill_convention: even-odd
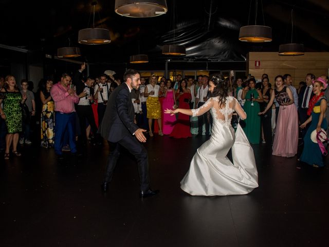
[[[19,132],[22,131],[22,108],[26,95],[21,95],[15,77],[12,75],[6,76],[5,86],[1,90],[3,98],[0,99],[0,105],[3,103],[3,108],[0,107],[0,115],[6,121],[6,151],[5,160],[9,160],[9,150],[12,145],[12,153],[15,156],[21,156],[17,151],[17,143],[19,142]]]

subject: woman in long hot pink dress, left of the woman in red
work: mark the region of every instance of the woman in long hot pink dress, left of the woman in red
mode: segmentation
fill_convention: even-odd
[[[166,109],[175,109],[176,108],[176,99],[175,94],[173,90],[172,81],[170,79],[167,80],[167,89],[165,92],[165,97],[162,101],[162,112],[164,112]],[[170,114],[164,114],[163,115],[163,134],[169,135],[174,129],[174,125],[176,122],[176,116],[171,116]]]

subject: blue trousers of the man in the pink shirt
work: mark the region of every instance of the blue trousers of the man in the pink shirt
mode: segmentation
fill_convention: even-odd
[[[76,153],[76,113],[55,112],[55,119],[55,153],[60,155],[62,154],[64,134],[66,131],[68,134],[68,144],[70,145],[71,153]]]

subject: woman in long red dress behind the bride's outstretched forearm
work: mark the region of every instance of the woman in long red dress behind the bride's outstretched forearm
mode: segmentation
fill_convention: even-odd
[[[178,99],[179,108],[190,109],[191,98],[191,91],[187,88],[186,81],[182,80],[176,93],[176,100]],[[190,116],[178,113],[176,124],[170,136],[175,138],[191,137]]]

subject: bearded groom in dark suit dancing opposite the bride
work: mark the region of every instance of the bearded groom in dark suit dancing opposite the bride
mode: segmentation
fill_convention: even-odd
[[[120,146],[123,146],[137,160],[140,180],[139,197],[152,197],[159,191],[150,189],[148,152],[140,143],[146,142],[143,134],[146,130],[140,129],[134,123],[135,110],[130,96],[132,89],[138,90],[140,74],[137,70],[127,69],[123,77],[124,83],[118,86],[108,99],[104,118],[99,127],[99,133],[108,140],[111,150],[107,158],[102,190],[105,192],[108,189],[108,184],[112,180],[113,171],[120,156]]]

